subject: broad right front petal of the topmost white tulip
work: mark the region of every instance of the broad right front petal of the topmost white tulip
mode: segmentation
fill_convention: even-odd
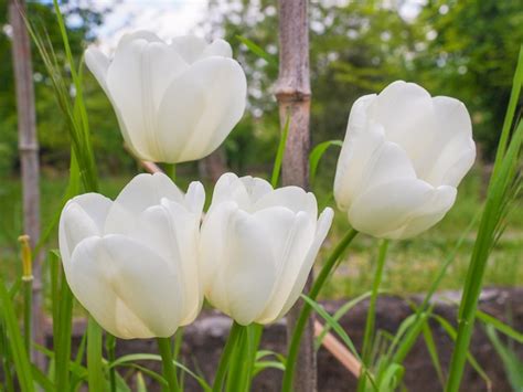
[[[162,161],[183,162],[214,151],[242,118],[246,78],[237,62],[209,57],[174,78],[159,109]]]

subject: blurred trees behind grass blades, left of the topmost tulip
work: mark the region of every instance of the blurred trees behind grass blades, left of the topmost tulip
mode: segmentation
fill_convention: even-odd
[[[0,63],[0,174],[7,174],[18,167],[17,110],[10,47],[11,27],[7,21],[7,0],[0,0],[0,57],[4,60]],[[61,9],[68,27],[67,35],[77,63],[79,63],[85,43],[93,41],[94,30],[102,23],[105,12],[105,10],[90,6],[90,2],[61,1]],[[95,11],[96,9],[99,11]],[[49,35],[58,59],[64,57],[62,38],[52,2],[30,2],[26,13],[35,30],[41,34]],[[56,110],[54,92],[40,54],[35,47],[32,47],[32,52],[42,165],[45,167],[52,163],[56,168],[66,168],[68,166],[70,141],[65,124],[60,110]],[[93,113],[89,114],[94,129],[94,142],[102,147],[98,152],[106,157],[103,162],[110,165],[111,159],[126,159],[125,151],[107,153],[108,151],[122,150],[117,124],[114,117],[107,116],[108,113],[111,113],[110,105],[88,72],[85,73],[85,82],[87,104],[93,108]],[[98,110],[100,107],[103,110]],[[118,145],[119,149],[116,149],[115,145]]]

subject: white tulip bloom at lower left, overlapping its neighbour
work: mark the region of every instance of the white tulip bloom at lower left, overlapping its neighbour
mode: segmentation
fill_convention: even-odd
[[[98,193],[67,202],[60,252],[67,283],[118,338],[169,337],[200,312],[200,182],[183,194],[162,173],[139,174],[115,201]]]

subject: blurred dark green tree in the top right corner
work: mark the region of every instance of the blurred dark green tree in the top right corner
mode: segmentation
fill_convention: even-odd
[[[427,88],[463,100],[492,158],[523,43],[523,0],[428,1],[415,28],[414,68]]]

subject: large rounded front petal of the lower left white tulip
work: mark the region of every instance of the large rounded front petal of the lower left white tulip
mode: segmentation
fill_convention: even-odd
[[[154,252],[121,235],[83,241],[67,282],[98,324],[119,338],[169,337],[179,325],[179,276]]]

